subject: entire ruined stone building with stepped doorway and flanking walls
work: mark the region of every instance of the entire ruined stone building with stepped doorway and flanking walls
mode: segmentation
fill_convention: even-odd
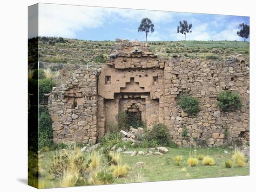
[[[242,108],[222,112],[221,90],[239,93]],[[189,117],[177,104],[179,94],[196,97],[198,115]],[[209,147],[249,141],[249,67],[233,56],[226,61],[173,55],[161,58],[139,41],[116,39],[102,69],[74,70],[66,84],[49,93],[54,142],[95,144],[116,121],[119,111],[141,115],[147,126],[165,123],[173,141],[189,146],[204,140]],[[187,128],[188,138],[182,136]],[[225,134],[225,130],[228,134]]]

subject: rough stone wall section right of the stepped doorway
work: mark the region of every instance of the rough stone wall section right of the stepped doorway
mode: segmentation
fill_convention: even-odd
[[[243,58],[233,57],[220,62],[170,58],[165,65],[164,84],[163,122],[179,145],[203,140],[210,147],[227,141],[249,140],[249,68]],[[239,93],[242,108],[236,112],[222,112],[217,106],[217,96],[222,90]],[[189,117],[177,105],[180,93],[199,100],[198,115]],[[183,128],[188,130],[188,139],[182,136]],[[228,134],[224,134],[225,129]]]

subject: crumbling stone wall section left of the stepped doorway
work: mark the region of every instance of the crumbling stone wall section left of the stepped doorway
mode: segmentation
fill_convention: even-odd
[[[94,144],[97,128],[97,71],[80,68],[66,84],[49,93],[54,142]]]

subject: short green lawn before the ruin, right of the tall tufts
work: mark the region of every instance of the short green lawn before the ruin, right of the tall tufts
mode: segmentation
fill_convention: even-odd
[[[146,151],[145,149],[138,149],[141,151]],[[163,181],[163,180],[178,180],[178,179],[196,179],[196,178],[212,178],[212,177],[228,177],[228,176],[241,176],[249,175],[249,162],[245,167],[237,167],[234,165],[232,168],[224,168],[223,164],[226,160],[230,160],[232,156],[232,151],[230,149],[223,148],[210,148],[209,156],[213,157],[216,161],[213,166],[203,166],[202,162],[195,167],[189,167],[187,165],[187,160],[189,158],[190,149],[181,148],[174,149],[168,148],[168,152],[161,156],[130,156],[122,154],[123,164],[128,164],[133,167],[129,173],[128,177],[133,177],[140,168],[135,168],[135,163],[138,161],[144,161],[145,167],[141,168],[141,173],[148,181]],[[192,149],[192,153],[194,149]],[[224,154],[223,151],[227,150],[230,154]],[[208,150],[205,148],[196,149],[197,155],[207,155]],[[183,160],[180,166],[175,166],[175,162],[172,160],[176,155],[182,155]],[[167,163],[169,162],[169,164]],[[186,171],[182,168],[185,167]],[[116,179],[116,183],[123,183],[127,181],[127,178]]]

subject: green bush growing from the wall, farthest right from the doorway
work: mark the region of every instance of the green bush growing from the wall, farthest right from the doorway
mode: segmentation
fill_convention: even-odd
[[[242,107],[242,102],[237,93],[226,90],[220,92],[218,106],[222,111],[236,111]]]

